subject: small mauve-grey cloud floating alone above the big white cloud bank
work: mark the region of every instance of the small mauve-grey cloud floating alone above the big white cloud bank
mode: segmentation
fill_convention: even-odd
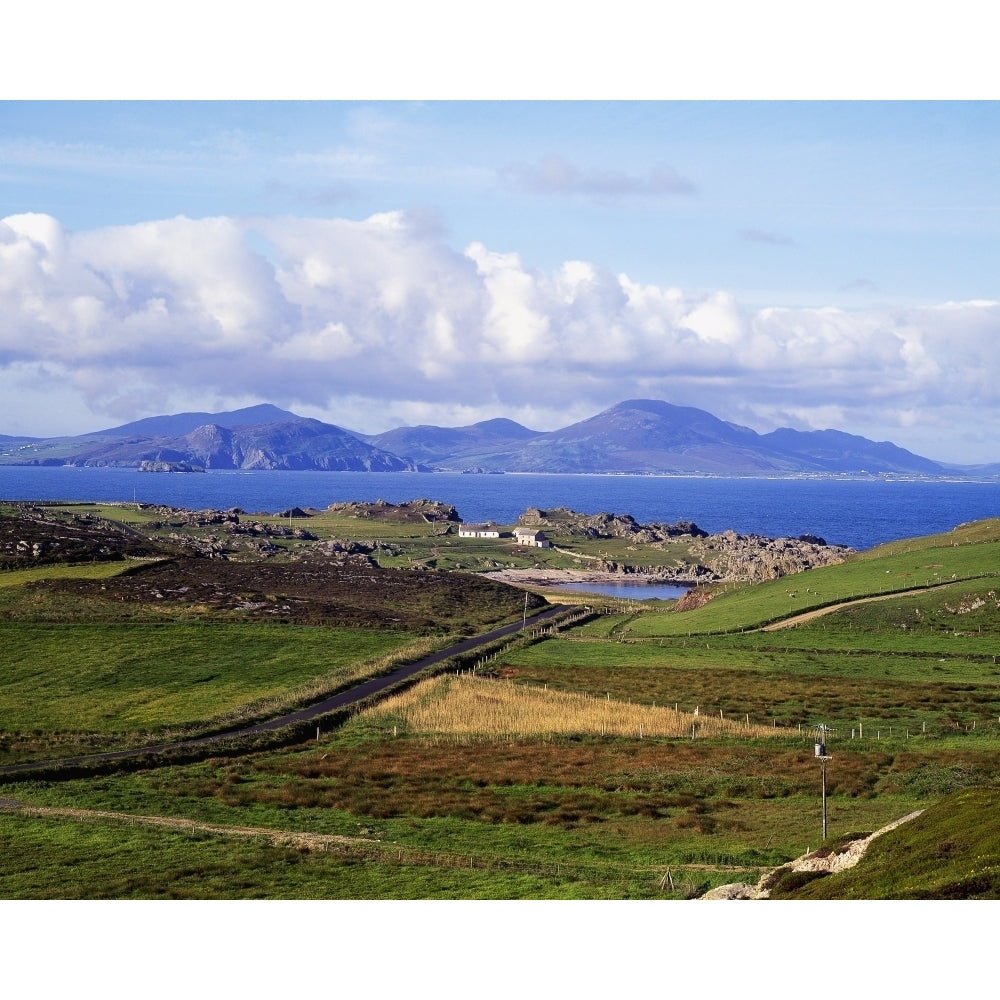
[[[507,181],[532,194],[580,194],[617,198],[631,195],[693,194],[695,185],[668,164],[658,164],[645,176],[621,170],[582,169],[555,154],[538,163],[517,164],[504,171]]]

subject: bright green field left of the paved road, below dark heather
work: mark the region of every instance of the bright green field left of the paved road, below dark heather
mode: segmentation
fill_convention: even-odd
[[[306,684],[363,677],[408,640],[251,624],[0,623],[0,717],[15,733],[196,727],[262,700],[287,703]]]

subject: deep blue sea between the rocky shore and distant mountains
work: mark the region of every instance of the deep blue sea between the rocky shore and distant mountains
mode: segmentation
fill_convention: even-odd
[[[466,521],[511,524],[528,507],[694,521],[770,537],[819,535],[870,548],[1000,516],[1000,483],[880,479],[725,479],[698,476],[462,475],[419,472],[150,473],[134,469],[0,466],[0,500],[164,503],[200,510],[288,507],[424,497]]]

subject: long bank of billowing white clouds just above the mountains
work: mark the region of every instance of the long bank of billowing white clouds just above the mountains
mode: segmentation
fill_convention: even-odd
[[[5,433],[15,400],[31,433],[23,408],[43,395],[122,420],[267,400],[367,431],[456,415],[545,429],[653,396],[762,431],[835,426],[997,461],[998,340],[994,301],[749,308],[587,261],[542,272],[482,243],[460,252],[400,212],[0,221]]]

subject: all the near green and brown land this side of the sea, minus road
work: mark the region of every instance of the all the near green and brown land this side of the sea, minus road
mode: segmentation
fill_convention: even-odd
[[[0,896],[1000,896],[1000,520],[860,553],[563,508],[521,518],[547,548],[517,526],[6,503],[0,766],[49,765],[0,774]],[[520,623],[559,573],[691,589],[581,592],[318,732],[67,763]],[[816,860],[915,813],[854,867]]]

